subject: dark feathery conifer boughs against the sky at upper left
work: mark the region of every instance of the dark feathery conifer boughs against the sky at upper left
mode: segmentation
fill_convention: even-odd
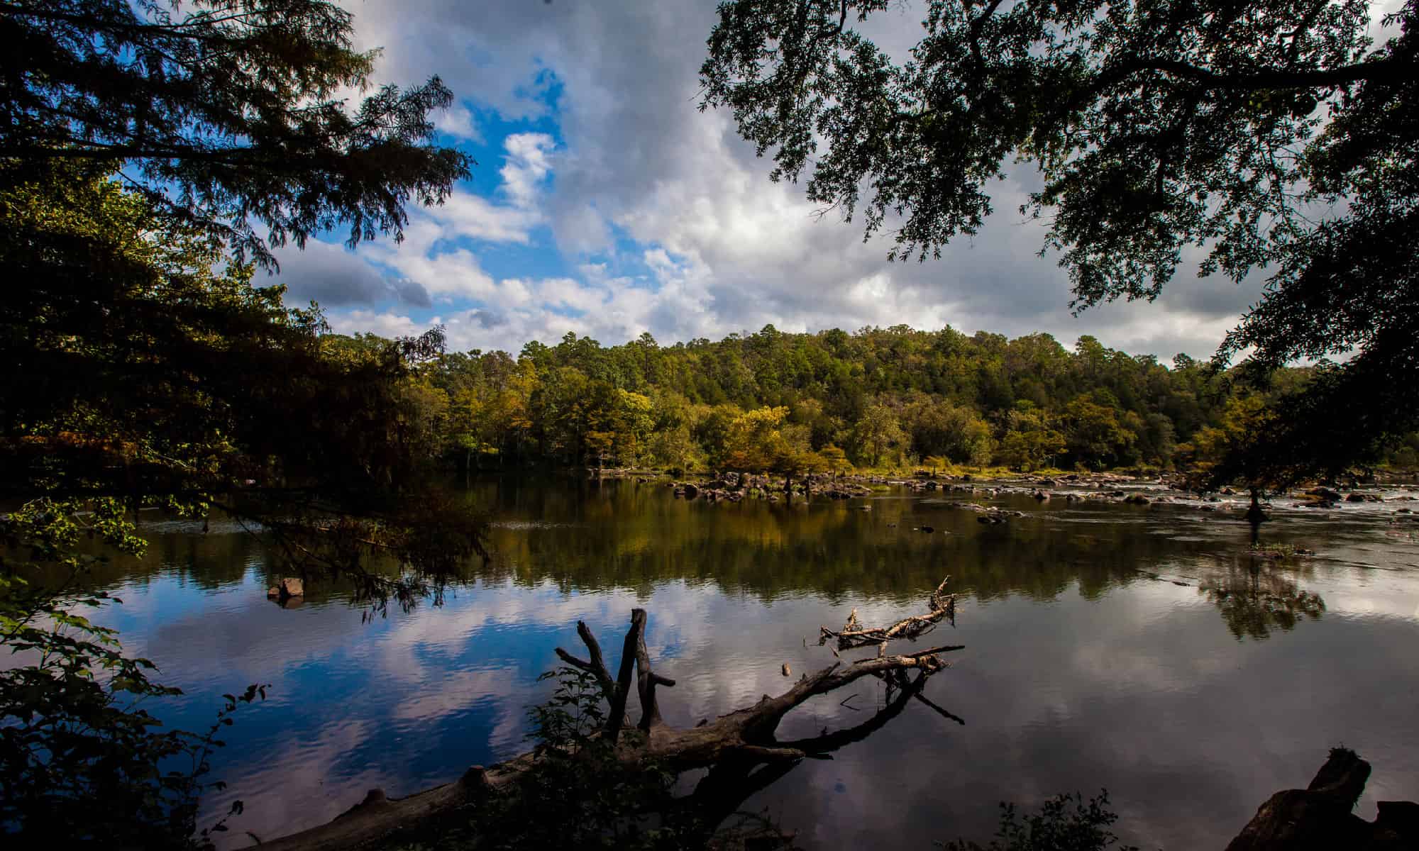
[[[399,235],[410,201],[438,203],[467,155],[431,143],[453,102],[433,78],[380,87],[377,51],[325,0],[10,0],[0,34],[0,160],[23,179],[57,159],[122,167],[160,211],[271,262],[346,227],[353,245]],[[261,235],[264,231],[264,238]]]

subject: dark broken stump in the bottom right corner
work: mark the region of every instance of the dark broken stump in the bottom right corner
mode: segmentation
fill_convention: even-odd
[[[1419,804],[1379,801],[1375,821],[1351,813],[1369,780],[1369,763],[1335,747],[1305,789],[1273,794],[1227,851],[1401,851],[1419,848]]]

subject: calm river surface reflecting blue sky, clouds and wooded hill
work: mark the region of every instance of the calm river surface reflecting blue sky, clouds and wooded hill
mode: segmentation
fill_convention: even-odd
[[[368,623],[332,590],[268,601],[277,573],[237,529],[158,525],[143,562],[111,566],[123,604],[106,623],[187,692],[162,712],[173,723],[206,728],[221,692],[272,685],[214,759],[230,787],[211,808],[247,804],[236,845],[326,821],[370,787],[406,794],[525,750],[525,708],[548,691],[536,675],[555,647],[580,652],[578,618],[619,647],[630,608],[647,608],[656,669],[678,681],[664,716],[692,725],[788,688],[785,662],[795,678],[832,662],[819,624],[853,607],[868,624],[915,614],[944,574],[956,624],[929,640],[966,650],[927,695],[965,725],[908,705],[746,808],[810,848],[890,835],[925,851],[988,838],[1000,800],[1107,787],[1127,841],[1220,848],[1338,743],[1374,763],[1361,816],[1419,799],[1419,522],[1395,513],[1419,504],[1279,509],[1261,540],[1317,555],[1271,563],[1222,511],[1007,496],[990,504],[1027,516],[986,526],[949,505],[968,498],[893,491],[857,511],[482,482],[470,504],[495,518],[497,563],[443,607]],[[877,681],[847,691],[858,711],[839,705],[847,692],[820,698],[780,735],[883,703]]]

